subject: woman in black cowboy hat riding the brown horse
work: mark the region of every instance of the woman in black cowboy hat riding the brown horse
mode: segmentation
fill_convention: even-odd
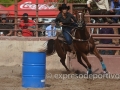
[[[66,4],[62,4],[59,7],[60,13],[56,17],[55,21],[56,23],[59,23],[60,26],[62,26],[62,34],[67,44],[69,45],[70,49],[72,50],[71,58],[75,58],[76,57],[75,48],[72,43],[72,37],[69,33],[74,27],[77,27],[77,24],[76,24],[77,20],[71,13],[68,12],[69,9],[70,9],[70,6],[67,6]],[[72,27],[70,27],[71,22],[72,22]]]

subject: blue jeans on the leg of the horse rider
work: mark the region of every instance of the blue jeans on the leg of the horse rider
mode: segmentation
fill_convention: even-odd
[[[73,28],[71,28],[71,27],[62,27],[62,34],[63,34],[63,36],[64,36],[64,38],[65,38],[68,45],[72,44],[72,37],[69,34],[72,29]]]

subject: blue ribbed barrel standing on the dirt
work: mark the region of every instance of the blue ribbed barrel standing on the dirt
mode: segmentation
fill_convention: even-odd
[[[46,75],[45,52],[23,52],[22,87],[44,88]]]

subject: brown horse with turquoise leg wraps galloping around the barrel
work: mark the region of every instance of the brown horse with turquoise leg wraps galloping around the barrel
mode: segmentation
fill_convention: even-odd
[[[87,31],[86,24],[84,21],[84,13],[81,13],[79,15],[80,18],[78,20],[78,27],[74,28],[73,31],[74,33],[73,44],[76,50],[77,60],[81,65],[83,65],[87,69],[88,74],[91,74],[92,69],[91,69],[91,64],[88,61],[87,54],[90,52],[94,53],[94,55],[99,59],[104,73],[107,73],[107,69],[103,62],[103,58],[98,53],[94,40]],[[65,64],[65,59],[67,52],[70,52],[71,50],[66,43],[64,43],[62,40],[59,39],[59,36],[57,36],[57,39],[55,40],[53,39],[48,40],[47,43],[47,49],[46,49],[47,55],[52,55],[55,51],[60,57],[60,62],[62,63],[62,65],[66,68],[67,71],[69,71],[69,69]],[[81,57],[85,61],[87,66],[82,62]]]

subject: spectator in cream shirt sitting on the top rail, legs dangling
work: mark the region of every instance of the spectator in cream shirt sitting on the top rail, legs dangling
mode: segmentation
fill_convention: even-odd
[[[98,10],[91,11],[91,2],[95,2]],[[108,0],[87,0],[88,11],[90,15],[108,15],[109,13],[109,3]],[[107,12],[108,11],[108,12]],[[96,23],[99,22],[97,17],[94,17]],[[103,18],[104,22],[112,23],[113,21],[110,18]]]

